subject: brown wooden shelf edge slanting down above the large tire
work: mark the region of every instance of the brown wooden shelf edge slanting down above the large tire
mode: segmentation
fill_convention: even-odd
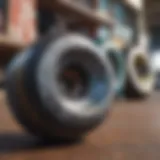
[[[106,25],[112,26],[114,24],[113,18],[109,15],[99,14],[96,10],[86,8],[71,0],[39,0],[39,4],[43,8],[47,8],[59,12],[65,16],[76,16],[79,20],[84,22],[84,25]]]

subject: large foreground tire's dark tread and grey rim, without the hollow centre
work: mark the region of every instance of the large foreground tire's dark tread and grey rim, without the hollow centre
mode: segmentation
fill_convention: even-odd
[[[60,54],[63,56],[63,52],[72,47],[87,50],[90,58],[95,57],[104,69],[103,76],[109,75],[108,95],[103,95],[105,98],[101,103],[94,104],[95,108],[88,109],[88,115],[82,111],[76,115],[65,104],[62,107],[57,101],[60,95],[53,95],[58,89],[47,88],[47,85],[54,84],[50,81],[50,75],[55,76],[51,66],[56,64],[56,61],[49,61],[55,60]],[[62,50],[59,52],[59,49]],[[8,67],[6,86],[12,111],[29,132],[48,140],[75,139],[82,137],[104,120],[114,97],[114,76],[110,64],[104,61],[103,54],[99,54],[100,51],[93,43],[81,35],[59,34],[55,31],[26,52],[17,56]]]

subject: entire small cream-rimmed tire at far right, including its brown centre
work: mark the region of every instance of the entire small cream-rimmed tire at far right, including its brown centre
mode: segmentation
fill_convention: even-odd
[[[125,94],[128,98],[146,98],[155,85],[155,73],[150,58],[140,47],[131,49],[126,58],[127,83]]]

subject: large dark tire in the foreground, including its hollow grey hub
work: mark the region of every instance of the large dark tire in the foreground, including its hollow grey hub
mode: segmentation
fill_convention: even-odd
[[[85,37],[53,32],[18,55],[6,78],[18,121],[35,136],[50,140],[79,138],[98,126],[114,97],[112,68],[99,52]],[[79,73],[79,79],[71,79],[84,89],[77,95],[67,90],[67,68]]]

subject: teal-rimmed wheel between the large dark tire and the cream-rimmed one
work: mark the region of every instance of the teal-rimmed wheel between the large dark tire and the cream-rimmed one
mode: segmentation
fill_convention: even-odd
[[[123,91],[126,80],[126,66],[123,53],[113,43],[104,47],[106,58],[110,61],[115,74],[115,92],[117,95]]]

